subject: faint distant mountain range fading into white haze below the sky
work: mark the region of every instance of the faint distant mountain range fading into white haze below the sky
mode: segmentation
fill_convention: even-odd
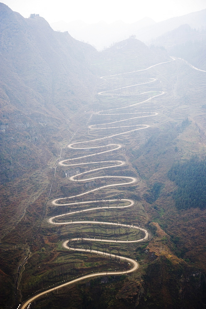
[[[145,17],[136,23],[128,24],[121,20],[108,24],[103,21],[95,24],[87,24],[82,21],[66,23],[59,21],[51,23],[56,31],[68,31],[77,40],[83,40],[94,45],[98,50],[109,47],[114,42],[136,35],[138,40],[149,43],[150,40],[165,32],[178,28],[182,24],[188,24],[191,28],[202,29],[206,27],[206,9],[179,17],[173,17],[159,23]]]

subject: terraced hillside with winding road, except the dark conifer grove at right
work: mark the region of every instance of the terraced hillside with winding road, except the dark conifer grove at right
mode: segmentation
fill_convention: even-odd
[[[0,307],[204,308],[205,210],[178,210],[167,173],[205,159],[205,72],[132,37],[90,61],[91,101],[62,105],[49,185],[2,238]]]

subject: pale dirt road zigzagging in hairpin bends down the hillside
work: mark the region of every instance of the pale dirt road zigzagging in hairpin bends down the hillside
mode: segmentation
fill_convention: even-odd
[[[170,61],[174,61],[175,58],[174,57],[171,57],[172,60]],[[158,63],[156,65],[153,65],[153,66],[150,66],[146,69],[143,69],[143,70],[138,70],[138,71],[132,71],[132,72],[127,72],[127,73],[123,73],[123,74],[114,74],[114,75],[111,75],[111,76],[117,76],[117,75],[125,75],[125,74],[129,74],[129,73],[136,73],[136,72],[141,72],[141,71],[145,71],[145,70],[149,70],[150,68],[152,67],[155,67],[155,66],[158,66],[158,65],[161,65],[163,63],[168,63],[170,61],[166,61],[166,62],[161,62],[161,63]],[[111,77],[110,76],[110,77]],[[103,76],[102,78],[105,79],[106,76]],[[156,78],[150,78],[152,79],[151,81],[149,82],[145,82],[145,83],[139,83],[139,84],[135,84],[135,85],[131,85],[131,86],[126,86],[126,87],[122,87],[122,88],[116,88],[114,89],[113,91],[117,91],[117,90],[120,90],[120,89],[123,89],[123,88],[128,88],[128,87],[132,87],[132,86],[139,86],[139,85],[143,85],[143,84],[147,84],[147,83],[153,83],[154,81],[156,81],[157,79]],[[109,91],[102,91],[102,92],[99,92],[99,95],[114,95],[114,94],[106,94],[105,92],[109,92]],[[141,93],[140,95],[145,95],[145,94],[148,94],[150,92],[154,92],[154,91],[148,91],[148,92],[143,92]],[[156,91],[158,92],[158,91]],[[133,224],[122,224],[120,222],[106,222],[106,221],[86,221],[86,220],[79,220],[79,221],[73,221],[73,220],[69,220],[67,218],[67,220],[65,219],[66,217],[69,217],[69,216],[72,216],[74,214],[85,214],[87,212],[92,212],[92,211],[95,211],[95,210],[103,210],[103,209],[126,209],[128,207],[135,207],[135,204],[134,204],[134,201],[131,200],[131,199],[104,199],[104,200],[101,200],[101,199],[97,199],[95,201],[93,200],[90,200],[90,201],[82,201],[82,202],[68,202],[68,199],[73,199],[73,198],[76,198],[76,197],[82,197],[84,195],[88,195],[92,192],[95,192],[97,190],[100,190],[100,189],[104,189],[104,188],[108,188],[108,187],[115,187],[115,186],[125,186],[125,185],[131,185],[131,184],[135,184],[138,180],[136,177],[132,177],[132,176],[95,176],[95,177],[86,177],[89,173],[93,173],[93,172],[97,172],[97,171],[101,171],[101,170],[104,170],[104,169],[110,169],[110,168],[117,168],[117,167],[121,167],[121,166],[124,166],[126,163],[122,160],[107,160],[107,161],[94,161],[94,162],[83,162],[80,160],[81,159],[85,159],[85,158],[90,158],[92,156],[95,156],[95,155],[102,155],[102,154],[105,154],[105,153],[108,153],[108,152],[112,152],[112,151],[116,151],[118,149],[120,149],[122,147],[121,144],[115,144],[115,143],[111,143],[111,144],[107,144],[107,145],[100,145],[100,146],[86,146],[84,147],[84,144],[85,143],[93,143],[93,142],[97,142],[97,144],[103,140],[106,140],[106,139],[109,139],[109,138],[113,138],[115,136],[120,136],[122,134],[127,134],[127,133],[130,133],[130,132],[133,132],[133,131],[137,131],[137,130],[142,130],[142,129],[147,129],[149,128],[149,125],[148,124],[144,124],[144,125],[121,125],[122,123],[124,123],[124,121],[129,121],[129,120],[134,120],[134,119],[138,119],[138,118],[145,118],[145,117],[150,117],[150,116],[156,116],[158,115],[157,112],[132,112],[132,113],[124,113],[124,109],[125,108],[128,108],[128,107],[136,107],[140,104],[144,104],[145,102],[151,100],[152,98],[154,97],[158,97],[160,95],[163,95],[165,92],[164,91],[159,91],[158,93],[154,94],[154,95],[151,95],[149,96],[149,98],[141,101],[141,102],[137,102],[135,104],[131,104],[129,106],[124,106],[124,107],[119,107],[119,108],[113,108],[113,109],[108,109],[108,110],[102,110],[100,112],[98,112],[97,114],[99,115],[104,115],[104,116],[108,116],[108,115],[130,115],[130,114],[136,114],[137,116],[136,117],[129,117],[127,119],[123,119],[123,120],[116,120],[116,121],[112,121],[112,122],[108,122],[108,123],[104,123],[104,124],[101,124],[101,125],[90,125],[89,126],[89,129],[91,130],[103,130],[103,129],[115,129],[116,127],[115,126],[112,126],[112,124],[117,124],[119,123],[120,126],[119,128],[123,129],[124,128],[128,128],[128,127],[132,127],[131,130],[128,130],[126,129],[126,131],[123,131],[123,132],[120,132],[120,133],[116,133],[116,134],[111,134],[111,135],[107,135],[107,136],[104,136],[104,137],[101,137],[101,138],[96,138],[96,139],[93,139],[93,140],[87,140],[87,141],[81,141],[81,142],[75,142],[75,143],[71,143],[68,145],[68,148],[70,149],[74,149],[74,150],[82,150],[82,149],[88,149],[88,150],[97,150],[96,153],[93,153],[93,154],[89,154],[89,155],[84,155],[84,156],[79,156],[79,157],[75,157],[75,158],[72,158],[72,159],[66,159],[66,160],[61,160],[58,164],[60,166],[67,166],[67,167],[74,167],[74,166],[90,166],[90,165],[99,165],[99,167],[95,167],[94,169],[91,169],[89,171],[84,171],[84,172],[81,172],[81,173],[78,173],[74,176],[71,176],[69,177],[69,180],[71,181],[76,181],[76,182],[86,182],[86,181],[92,181],[92,180],[102,180],[102,179],[113,179],[114,181],[117,180],[119,181],[120,179],[123,180],[122,182],[118,182],[118,183],[113,183],[113,184],[105,184],[105,185],[101,185],[97,188],[94,188],[94,189],[91,189],[87,192],[84,192],[84,193],[80,193],[80,194],[77,194],[77,195],[73,195],[73,196],[70,196],[70,197],[61,197],[61,198],[56,198],[55,200],[52,201],[52,204],[53,205],[56,205],[56,206],[62,206],[62,205],[96,205],[95,207],[91,207],[91,208],[86,208],[86,209],[81,209],[81,210],[77,210],[77,211],[72,211],[72,212],[67,212],[67,213],[64,213],[64,214],[61,214],[61,215],[57,215],[57,216],[53,216],[51,218],[48,219],[48,222],[50,224],[53,224],[55,226],[60,226],[60,225],[71,225],[71,224],[100,224],[100,225],[105,225],[105,226],[108,226],[108,225],[112,225],[112,226],[121,226],[121,227],[124,227],[124,228],[130,228],[130,229],[136,229],[136,230],[141,230],[143,232],[143,234],[145,235],[143,238],[141,239],[137,239],[137,240],[120,240],[120,239],[96,239],[96,238],[73,238],[73,239],[70,239],[70,240],[66,240],[62,246],[63,248],[65,249],[68,249],[68,250],[73,250],[73,251],[80,251],[80,252],[86,252],[86,253],[92,253],[92,254],[98,254],[98,255],[103,255],[103,256],[108,256],[108,257],[116,257],[115,254],[111,254],[111,253],[107,253],[107,252],[102,252],[102,251],[99,251],[99,250],[92,250],[91,248],[89,249],[85,249],[85,248],[73,248],[71,247],[70,245],[70,242],[71,241],[79,241],[79,240],[85,240],[85,241],[90,241],[90,242],[106,242],[106,243],[138,243],[138,242],[142,242],[144,240],[148,240],[149,239],[149,234],[148,234],[148,231],[144,228],[141,228],[140,226],[137,226],[137,225],[133,225]],[[120,96],[121,94],[118,94],[118,96]],[[132,95],[137,95],[138,94],[132,94]],[[123,113],[119,113],[119,114],[112,114],[112,111],[117,111],[117,110],[120,110],[120,111],[123,111]],[[106,112],[109,112],[109,114],[107,114]],[[140,116],[141,115],[141,116]],[[111,125],[109,128],[103,128],[104,125]],[[135,128],[136,127],[136,128]],[[100,131],[101,132],[101,131]],[[108,149],[109,148],[109,149]],[[74,161],[79,161],[79,162],[74,162]],[[74,162],[74,163],[73,163]],[[101,166],[103,165],[103,166]],[[99,204],[101,202],[107,202],[108,203],[108,206],[99,206]],[[124,204],[128,204],[128,205],[119,205],[119,203],[121,202],[124,202]],[[116,202],[116,206],[114,206],[113,204]],[[111,204],[111,205],[109,205]],[[121,204],[121,203],[120,203]],[[58,221],[59,220],[59,221]],[[79,278],[76,278],[74,280],[71,280],[69,282],[65,282],[65,283],[62,283],[61,285],[59,286],[54,286],[48,290],[45,290],[43,292],[40,292],[39,294],[35,295],[35,296],[32,296],[31,298],[29,298],[26,302],[24,302],[22,305],[21,305],[21,309],[25,309],[29,306],[30,303],[32,303],[33,301],[35,301],[37,298],[40,298],[42,296],[45,296],[47,295],[48,293],[50,292],[54,292],[60,288],[63,288],[65,286],[68,286],[68,285],[71,285],[71,284],[74,284],[76,282],[81,282],[82,280],[85,280],[87,278],[93,278],[93,277],[97,277],[97,276],[105,276],[105,275],[122,275],[122,274],[128,274],[128,273],[132,273],[134,272],[135,270],[138,269],[139,267],[139,263],[134,260],[134,259],[131,259],[131,258],[128,258],[128,257],[125,257],[125,256],[119,256],[118,255],[118,258],[120,260],[123,260],[123,261],[127,261],[128,264],[131,265],[131,269],[129,270],[122,270],[122,271],[102,271],[102,272],[98,272],[98,273],[90,273],[90,274],[87,274],[87,275],[83,275]]]

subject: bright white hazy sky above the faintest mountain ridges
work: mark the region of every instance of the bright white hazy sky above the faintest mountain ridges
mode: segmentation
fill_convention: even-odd
[[[0,0],[1,1],[1,0]],[[206,8],[205,0],[4,0],[23,17],[39,14],[49,23],[82,20],[133,23],[147,16],[156,22]]]

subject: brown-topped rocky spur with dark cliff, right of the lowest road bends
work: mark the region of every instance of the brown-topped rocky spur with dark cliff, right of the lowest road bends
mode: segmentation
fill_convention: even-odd
[[[151,222],[150,225],[156,231],[145,249],[152,263],[144,276],[146,304],[141,301],[142,308],[154,308],[155,304],[167,309],[204,308],[204,273],[172,253],[174,245],[158,223]]]

